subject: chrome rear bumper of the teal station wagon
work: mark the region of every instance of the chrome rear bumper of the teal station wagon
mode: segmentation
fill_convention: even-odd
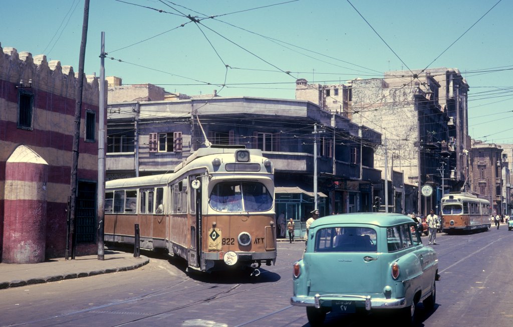
[[[293,296],[290,298],[290,304],[296,306],[314,306],[318,309],[324,303],[329,306],[331,301],[354,301],[359,307],[365,307],[365,310],[371,309],[399,309],[406,306],[406,298],[386,299],[371,298],[370,295],[344,295],[344,294],[316,294],[315,296]]]

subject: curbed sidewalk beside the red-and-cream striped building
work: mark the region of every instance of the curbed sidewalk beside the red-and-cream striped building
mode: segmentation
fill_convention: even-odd
[[[134,258],[133,254],[105,250],[105,260],[97,255],[50,259],[41,263],[0,263],[0,290],[9,287],[81,278],[100,274],[124,272],[139,268],[150,260],[147,257]]]

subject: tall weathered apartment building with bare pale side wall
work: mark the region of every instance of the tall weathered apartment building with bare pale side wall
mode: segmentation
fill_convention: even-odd
[[[374,153],[375,166],[384,178],[386,150],[388,178],[394,176],[393,160],[393,169],[404,172],[404,185],[417,189],[416,194],[404,194],[402,212],[411,208],[426,214],[436,208],[442,188],[445,193],[468,188],[468,89],[457,69],[433,68],[390,71],[382,79],[354,79],[339,85],[310,85],[298,80],[296,98],[341,112],[382,133],[387,147]],[[420,193],[425,184],[436,190],[428,199]],[[383,191],[378,194],[382,199]],[[392,192],[396,189],[388,191],[388,198],[395,199]]]

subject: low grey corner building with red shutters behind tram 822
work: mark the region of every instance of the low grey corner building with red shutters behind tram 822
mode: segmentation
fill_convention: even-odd
[[[321,216],[372,210],[381,134],[317,104],[251,97],[109,102],[107,116],[107,179],[172,171],[208,140],[261,149],[275,168],[276,212],[287,218],[308,218],[315,191]]]

